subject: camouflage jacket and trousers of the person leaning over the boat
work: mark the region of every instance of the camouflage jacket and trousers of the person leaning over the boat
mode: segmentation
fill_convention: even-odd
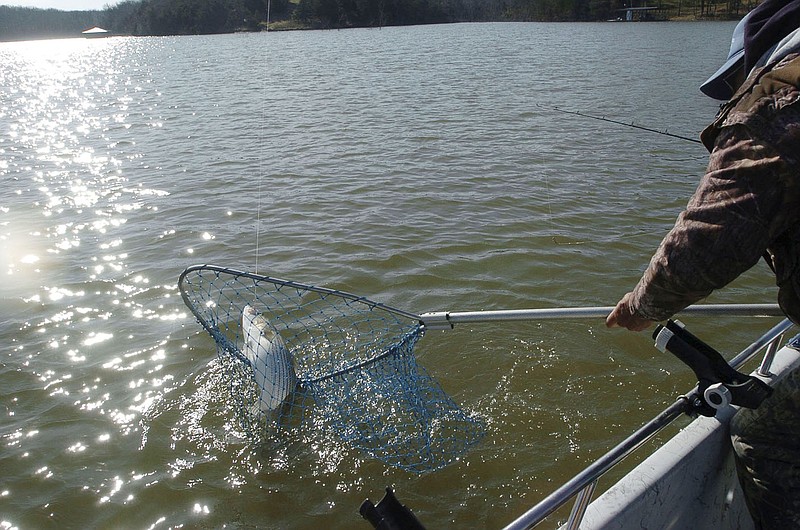
[[[708,170],[631,296],[664,320],[763,256],[778,303],[800,324],[800,54],[751,72],[701,139]],[[739,481],[756,528],[800,528],[800,368],[731,424]]]

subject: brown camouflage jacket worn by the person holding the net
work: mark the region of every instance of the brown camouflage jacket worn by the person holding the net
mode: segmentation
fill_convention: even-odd
[[[763,256],[778,303],[800,323],[800,54],[753,71],[701,134],[706,174],[633,291],[663,320]]]

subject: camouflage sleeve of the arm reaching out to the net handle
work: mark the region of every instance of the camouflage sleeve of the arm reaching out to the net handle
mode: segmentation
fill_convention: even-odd
[[[633,310],[664,320],[755,265],[785,229],[783,182],[792,170],[748,128],[723,129],[699,187],[633,291]]]

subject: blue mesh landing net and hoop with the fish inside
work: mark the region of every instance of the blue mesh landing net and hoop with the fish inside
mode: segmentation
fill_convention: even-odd
[[[475,444],[482,422],[414,357],[419,316],[341,291],[213,265],[186,269],[181,296],[217,345],[248,437],[325,428],[418,473]]]

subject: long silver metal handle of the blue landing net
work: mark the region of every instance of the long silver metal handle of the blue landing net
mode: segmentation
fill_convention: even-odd
[[[605,319],[613,307],[556,307],[497,311],[440,311],[419,316],[426,329],[451,329],[456,324],[558,319]],[[682,310],[680,315],[785,317],[778,304],[702,304]]]

